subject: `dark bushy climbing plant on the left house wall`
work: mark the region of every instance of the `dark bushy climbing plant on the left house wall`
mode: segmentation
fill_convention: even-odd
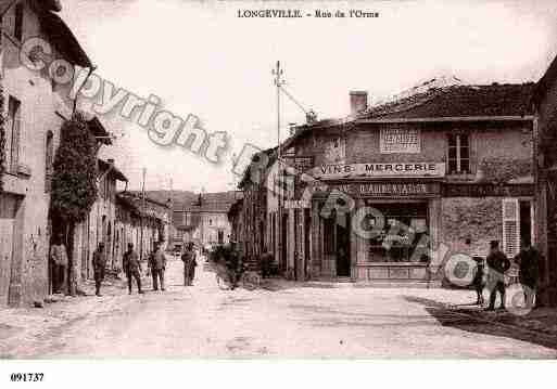
[[[83,114],[64,121],[54,157],[50,211],[73,226],[87,218],[97,199],[97,144]]]

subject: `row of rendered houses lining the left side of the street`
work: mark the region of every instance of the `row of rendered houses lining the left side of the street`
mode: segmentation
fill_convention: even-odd
[[[0,191],[0,304],[13,306],[43,299],[52,291],[49,259],[53,223],[49,215],[51,179],[61,127],[72,117],[76,102],[69,86],[52,80],[48,69],[22,64],[23,43],[39,37],[52,48],[54,59],[76,68],[93,65],[64,21],[55,0],[3,1],[0,5],[0,87],[2,91],[4,173]],[[33,59],[26,59],[31,61]],[[98,150],[110,147],[111,135],[97,117],[87,131]],[[114,160],[98,159],[98,198],[86,220],[66,243],[72,280],[92,276],[92,252],[105,244],[109,268],[118,269],[128,242],[147,252],[154,241],[168,242],[170,212],[161,204],[118,193],[127,178]],[[142,236],[142,237],[141,237]]]

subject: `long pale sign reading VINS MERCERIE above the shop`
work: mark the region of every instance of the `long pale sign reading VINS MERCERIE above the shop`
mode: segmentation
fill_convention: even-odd
[[[443,163],[369,163],[321,165],[313,169],[313,176],[321,179],[356,177],[444,177]]]

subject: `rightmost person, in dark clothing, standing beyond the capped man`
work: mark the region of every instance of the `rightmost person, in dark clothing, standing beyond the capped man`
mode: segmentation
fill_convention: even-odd
[[[540,251],[530,244],[530,239],[521,239],[520,252],[515,257],[519,264],[519,281],[524,290],[526,308],[534,307],[535,290],[540,280]]]

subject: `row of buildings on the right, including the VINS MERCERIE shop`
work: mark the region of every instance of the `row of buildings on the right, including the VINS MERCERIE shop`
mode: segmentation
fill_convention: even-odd
[[[421,285],[439,285],[453,254],[485,257],[498,241],[514,257],[527,241],[555,285],[556,69],[539,83],[432,80],[375,106],[351,92],[347,117],[254,156],[235,238],[290,278]]]

